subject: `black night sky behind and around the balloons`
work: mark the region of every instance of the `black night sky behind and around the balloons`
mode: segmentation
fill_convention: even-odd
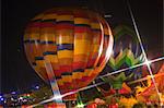
[[[36,14],[63,5],[85,5],[103,14],[112,28],[119,24],[132,25],[127,10],[127,0],[3,0],[2,2],[2,93],[26,89],[42,83],[42,80],[30,67],[24,49],[23,34],[28,21]],[[148,52],[163,52],[163,0],[129,0],[139,32]],[[155,58],[155,56],[153,56]]]

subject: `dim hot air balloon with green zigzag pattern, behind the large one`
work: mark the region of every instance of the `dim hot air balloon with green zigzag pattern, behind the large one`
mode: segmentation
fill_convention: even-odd
[[[98,86],[104,88],[106,93],[109,92],[109,88],[116,89],[119,93],[118,89],[122,88],[125,81],[140,79],[142,74],[140,69],[129,69],[120,72],[118,71],[143,62],[143,56],[139,48],[136,33],[126,25],[119,25],[114,29],[114,37],[115,46],[113,55],[106,68],[101,73],[103,75],[102,80],[106,83],[109,83],[110,86],[108,89],[105,85],[105,87]]]

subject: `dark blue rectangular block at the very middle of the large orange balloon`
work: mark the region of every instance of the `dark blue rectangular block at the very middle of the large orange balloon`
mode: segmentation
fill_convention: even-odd
[[[73,44],[57,45],[57,50],[73,50]]]

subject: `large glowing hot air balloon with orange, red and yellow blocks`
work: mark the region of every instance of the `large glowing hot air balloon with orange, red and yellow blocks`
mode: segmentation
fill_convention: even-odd
[[[36,73],[61,95],[90,84],[103,70],[113,49],[108,23],[83,8],[55,8],[27,25],[24,47]],[[56,86],[57,83],[57,86]],[[65,96],[74,100],[75,94]]]

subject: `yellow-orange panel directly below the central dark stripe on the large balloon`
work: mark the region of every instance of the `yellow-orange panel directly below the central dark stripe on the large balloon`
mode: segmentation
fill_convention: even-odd
[[[59,50],[58,58],[73,58],[73,51],[72,50]]]

